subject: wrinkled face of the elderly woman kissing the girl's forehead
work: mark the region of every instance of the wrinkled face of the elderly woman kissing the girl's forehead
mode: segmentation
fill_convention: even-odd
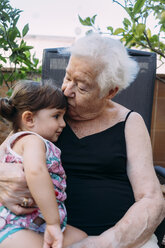
[[[89,120],[101,113],[105,99],[100,98],[97,75],[98,70],[93,60],[71,56],[62,84],[68,99],[67,114],[70,119]]]

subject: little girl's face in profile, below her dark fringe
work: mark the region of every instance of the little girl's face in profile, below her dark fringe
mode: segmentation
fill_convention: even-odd
[[[33,132],[43,138],[55,142],[58,140],[63,128],[66,126],[64,121],[65,109],[46,108],[34,114]]]

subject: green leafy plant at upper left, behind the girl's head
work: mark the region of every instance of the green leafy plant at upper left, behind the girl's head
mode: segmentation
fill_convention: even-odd
[[[8,95],[14,81],[27,78],[29,73],[41,74],[39,59],[30,51],[33,47],[24,41],[29,25],[22,31],[17,27],[21,12],[9,0],[0,0],[0,85],[6,84]]]

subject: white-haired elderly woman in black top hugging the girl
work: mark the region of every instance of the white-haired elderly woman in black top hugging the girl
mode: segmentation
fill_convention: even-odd
[[[89,35],[71,49],[62,85],[67,125],[57,145],[67,174],[68,223],[90,235],[72,247],[158,247],[152,234],[165,212],[149,134],[138,113],[113,102],[137,72],[119,41]],[[8,167],[1,166],[1,200],[14,212],[30,211],[20,207],[29,197],[23,172],[14,168],[9,177]],[[12,186],[18,178],[19,195]]]

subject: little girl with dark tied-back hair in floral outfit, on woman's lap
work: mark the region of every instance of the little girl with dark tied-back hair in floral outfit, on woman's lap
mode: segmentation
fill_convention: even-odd
[[[0,99],[0,115],[13,123],[3,161],[23,164],[38,206],[33,213],[18,216],[0,205],[1,248],[62,248],[86,237],[66,225],[66,175],[60,150],[51,143],[65,127],[66,107],[59,89],[38,82],[20,82],[9,99]],[[26,203],[25,199],[25,207]]]

